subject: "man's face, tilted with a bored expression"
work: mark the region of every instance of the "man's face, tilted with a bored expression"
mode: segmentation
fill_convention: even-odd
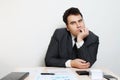
[[[83,18],[78,15],[69,15],[67,18],[67,30],[74,36],[80,32],[82,28],[85,28]]]

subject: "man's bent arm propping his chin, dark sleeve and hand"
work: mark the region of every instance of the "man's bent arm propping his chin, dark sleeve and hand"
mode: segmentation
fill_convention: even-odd
[[[89,62],[89,67],[91,67],[96,61],[99,38],[87,28],[82,28],[80,33],[77,35],[77,42],[79,43],[82,40],[85,40],[84,44],[78,48],[77,54],[80,59]]]

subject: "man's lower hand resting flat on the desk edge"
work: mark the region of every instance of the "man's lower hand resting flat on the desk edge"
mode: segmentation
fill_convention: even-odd
[[[74,60],[71,60],[71,66],[73,68],[87,69],[87,68],[89,68],[90,63],[86,62],[82,59],[74,59]]]

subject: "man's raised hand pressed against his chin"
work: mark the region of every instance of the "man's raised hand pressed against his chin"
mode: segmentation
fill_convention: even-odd
[[[84,38],[89,35],[89,30],[87,28],[80,29],[79,34],[77,35],[77,42],[81,42]]]

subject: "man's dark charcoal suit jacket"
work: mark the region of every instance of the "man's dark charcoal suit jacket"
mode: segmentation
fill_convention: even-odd
[[[82,47],[74,53],[70,32],[66,28],[56,29],[46,53],[45,64],[51,67],[65,67],[67,60],[80,58],[89,61],[92,66],[97,58],[98,44],[98,36],[89,31]]]

